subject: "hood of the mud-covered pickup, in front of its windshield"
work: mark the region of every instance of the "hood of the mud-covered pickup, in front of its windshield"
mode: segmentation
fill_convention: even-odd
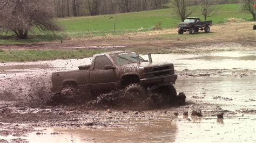
[[[141,62],[138,63],[130,63],[127,65],[123,65],[124,67],[143,67],[143,68],[151,68],[151,67],[163,67],[163,66],[172,66],[173,64],[170,62]]]

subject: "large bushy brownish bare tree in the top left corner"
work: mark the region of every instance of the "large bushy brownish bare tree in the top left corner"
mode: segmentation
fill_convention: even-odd
[[[32,27],[41,32],[58,31],[53,18],[52,1],[46,0],[9,0],[0,3],[0,28],[12,32],[21,39],[28,38]]]

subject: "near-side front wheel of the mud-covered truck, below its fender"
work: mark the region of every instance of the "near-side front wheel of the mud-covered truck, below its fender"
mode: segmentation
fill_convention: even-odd
[[[132,94],[135,98],[146,99],[147,91],[140,84],[130,84],[125,88],[125,92]]]

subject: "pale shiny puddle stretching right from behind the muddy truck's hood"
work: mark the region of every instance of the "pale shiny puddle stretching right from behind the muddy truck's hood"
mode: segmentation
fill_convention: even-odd
[[[147,59],[147,55],[143,55]],[[176,70],[247,69],[256,70],[256,52],[212,52],[200,54],[153,54],[156,62],[174,63]]]

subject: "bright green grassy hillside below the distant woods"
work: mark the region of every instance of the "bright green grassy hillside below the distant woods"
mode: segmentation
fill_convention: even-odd
[[[191,9],[198,9],[198,6],[193,6]],[[213,20],[214,23],[224,23],[227,18],[245,18],[251,20],[252,16],[248,13],[240,11],[239,4],[225,4],[217,6],[218,12],[208,19]],[[163,28],[175,27],[180,22],[175,15],[173,9],[152,10],[133,13],[119,13],[115,15],[91,16],[91,17],[75,17],[58,19],[58,23],[65,27],[65,32],[94,32],[94,31],[112,31],[113,24],[109,19],[112,16],[117,21],[117,30],[138,30],[140,27],[150,28],[158,22],[162,23]],[[197,10],[193,17],[200,17],[200,11]],[[64,32],[64,33],[65,33]]]

